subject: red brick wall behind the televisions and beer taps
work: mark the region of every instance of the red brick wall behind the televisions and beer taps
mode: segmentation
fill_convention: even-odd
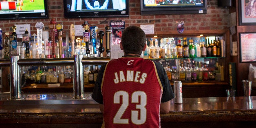
[[[129,1],[129,17],[126,18],[64,18],[63,0],[47,0],[49,9],[49,19],[26,19],[26,20],[0,20],[0,28],[3,33],[12,31],[13,24],[31,24],[31,33],[36,33],[35,23],[43,22],[43,31],[49,30],[49,22],[52,17],[56,22],[63,24],[64,31],[69,31],[70,24],[83,24],[87,20],[90,24],[96,25],[99,30],[105,30],[110,20],[124,20],[126,26],[140,24],[154,24],[155,31],[173,31],[176,30],[176,21],[184,21],[185,30],[223,30],[229,28],[229,10],[217,6],[217,0],[210,1],[211,5],[207,8],[207,14],[186,14],[186,15],[140,15],[139,0]]]

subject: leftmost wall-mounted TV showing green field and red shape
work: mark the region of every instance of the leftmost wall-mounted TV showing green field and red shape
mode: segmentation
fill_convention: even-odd
[[[32,18],[49,18],[47,0],[1,0],[0,19]]]

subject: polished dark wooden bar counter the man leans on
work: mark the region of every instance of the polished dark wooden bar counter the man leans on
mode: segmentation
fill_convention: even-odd
[[[2,128],[54,127],[100,128],[102,113],[91,93],[72,99],[73,93],[23,93],[21,100],[0,94]],[[255,128],[256,96],[183,98],[168,114],[161,114],[162,128]]]

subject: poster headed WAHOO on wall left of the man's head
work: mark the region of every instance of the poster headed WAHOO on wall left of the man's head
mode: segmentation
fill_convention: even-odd
[[[125,22],[122,20],[111,20],[109,26],[112,27],[112,42],[111,42],[111,59],[117,59],[124,55],[120,49],[119,43],[121,42],[122,33],[125,29]]]

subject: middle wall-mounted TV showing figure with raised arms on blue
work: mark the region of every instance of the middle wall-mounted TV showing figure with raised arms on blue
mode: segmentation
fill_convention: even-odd
[[[64,0],[65,18],[128,17],[129,0]]]

